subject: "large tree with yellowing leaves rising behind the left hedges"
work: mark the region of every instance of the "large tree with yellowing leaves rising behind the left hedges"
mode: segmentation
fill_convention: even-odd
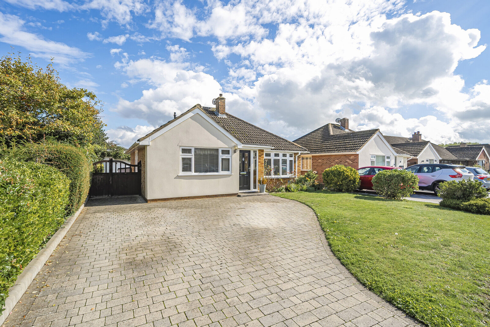
[[[52,63],[43,69],[20,54],[1,57],[0,136],[7,146],[46,137],[87,146],[104,125],[100,111],[96,95],[62,84]]]

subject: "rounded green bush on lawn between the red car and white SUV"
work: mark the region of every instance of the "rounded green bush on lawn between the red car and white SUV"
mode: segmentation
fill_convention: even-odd
[[[385,199],[408,197],[418,189],[418,177],[403,169],[385,169],[372,178],[372,188]]]

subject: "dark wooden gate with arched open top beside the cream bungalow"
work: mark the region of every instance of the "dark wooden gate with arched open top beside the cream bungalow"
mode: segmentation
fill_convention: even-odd
[[[94,163],[90,197],[141,194],[141,161],[129,164],[120,160]]]

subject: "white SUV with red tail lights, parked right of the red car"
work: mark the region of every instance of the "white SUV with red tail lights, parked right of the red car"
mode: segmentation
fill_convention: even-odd
[[[439,184],[447,181],[472,180],[475,176],[465,166],[444,163],[414,164],[405,170],[418,176],[418,188],[439,193]]]

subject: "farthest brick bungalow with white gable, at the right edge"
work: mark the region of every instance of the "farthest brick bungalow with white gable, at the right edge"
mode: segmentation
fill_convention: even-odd
[[[452,163],[463,164],[465,166],[480,165],[487,171],[490,168],[489,144],[469,144],[451,145],[446,147],[457,159]]]

